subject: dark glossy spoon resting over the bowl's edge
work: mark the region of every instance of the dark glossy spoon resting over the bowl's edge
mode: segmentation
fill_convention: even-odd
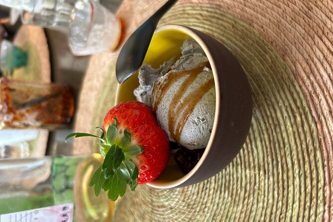
[[[158,21],[176,1],[177,0],[168,0],[135,30],[122,46],[115,64],[115,75],[119,84],[125,82],[140,68]]]

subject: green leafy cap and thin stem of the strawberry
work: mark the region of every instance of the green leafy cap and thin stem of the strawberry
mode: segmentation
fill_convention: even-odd
[[[92,176],[89,186],[94,186],[95,195],[98,196],[103,189],[108,192],[110,200],[115,201],[122,197],[126,186],[134,191],[138,184],[138,169],[134,164],[137,155],[143,152],[144,148],[131,142],[131,134],[127,129],[117,128],[117,119],[109,125],[107,132],[101,127],[100,136],[90,133],[71,133],[66,137],[92,136],[98,138],[101,154],[104,161]]]

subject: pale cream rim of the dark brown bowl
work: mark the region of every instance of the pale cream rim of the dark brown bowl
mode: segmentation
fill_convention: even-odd
[[[156,178],[156,180],[147,183],[148,186],[153,187],[153,188],[159,188],[159,189],[170,189],[170,188],[174,188],[174,187],[178,187],[181,184],[183,184],[184,182],[186,182],[187,180],[189,180],[197,171],[198,169],[201,167],[201,165],[203,164],[204,160],[206,159],[212,144],[213,144],[213,139],[216,135],[216,131],[217,131],[217,127],[218,127],[218,118],[219,115],[217,115],[216,113],[219,113],[220,110],[220,104],[221,104],[221,98],[220,98],[220,84],[218,81],[218,75],[217,75],[217,68],[216,65],[214,63],[214,59],[213,56],[211,55],[210,51],[208,50],[207,45],[205,44],[204,40],[202,40],[202,38],[193,31],[192,28],[184,26],[184,25],[177,25],[177,24],[168,24],[168,25],[162,25],[156,28],[156,30],[154,31],[154,34],[160,31],[165,31],[165,30],[176,30],[176,31],[181,31],[184,32],[186,35],[188,35],[189,37],[193,38],[197,43],[199,43],[199,45],[201,46],[201,48],[204,50],[208,61],[211,65],[212,68],[212,73],[213,73],[213,77],[214,77],[214,83],[215,83],[215,92],[216,92],[216,104],[215,104],[215,117],[214,117],[214,122],[213,122],[213,128],[212,128],[212,132],[211,132],[211,136],[209,138],[208,144],[206,146],[206,149],[202,155],[202,157],[200,158],[199,162],[196,164],[196,166],[186,175],[184,175],[183,177],[174,180],[174,181],[168,181],[168,182],[159,182],[158,178]],[[196,30],[199,31],[199,30]],[[117,86],[117,91],[116,91],[116,101],[115,103],[117,103],[117,98],[118,98],[118,93],[119,93],[119,88],[120,88],[120,84],[118,84]]]

